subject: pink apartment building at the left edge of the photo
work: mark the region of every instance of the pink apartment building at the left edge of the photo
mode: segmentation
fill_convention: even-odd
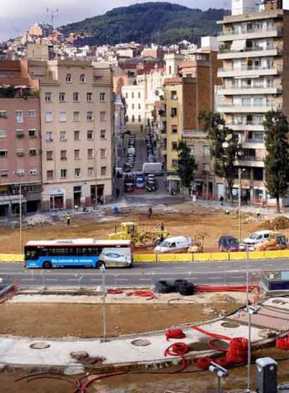
[[[0,216],[37,212],[41,202],[38,81],[26,61],[0,61]],[[20,196],[21,193],[21,196]]]

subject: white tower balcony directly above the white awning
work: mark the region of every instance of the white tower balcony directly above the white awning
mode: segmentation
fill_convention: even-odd
[[[242,39],[252,40],[254,38],[271,38],[283,36],[282,27],[267,27],[263,29],[243,29],[242,31],[220,31],[218,33],[218,42],[232,41],[238,37]]]

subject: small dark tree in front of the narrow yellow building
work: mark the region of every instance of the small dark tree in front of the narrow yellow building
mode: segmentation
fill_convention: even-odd
[[[191,149],[183,140],[178,143],[177,151],[177,173],[181,179],[181,185],[189,189],[198,165],[195,162],[195,157],[191,154]]]

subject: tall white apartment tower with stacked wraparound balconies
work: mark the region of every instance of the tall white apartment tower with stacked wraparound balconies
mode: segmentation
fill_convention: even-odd
[[[265,188],[264,128],[269,110],[289,115],[289,4],[288,1],[232,0],[232,15],[218,22],[218,59],[223,79],[216,110],[227,126],[238,135],[242,154],[237,168],[242,169],[242,196],[247,200],[269,200]],[[238,193],[236,168],[235,195]],[[218,194],[223,195],[221,179]]]

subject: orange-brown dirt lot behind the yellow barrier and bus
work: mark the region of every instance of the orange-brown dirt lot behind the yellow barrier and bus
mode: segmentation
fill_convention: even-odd
[[[134,221],[140,226],[156,228],[164,223],[171,236],[185,235],[195,237],[201,233],[205,236],[205,251],[216,251],[218,237],[221,235],[235,235],[239,237],[239,221],[237,212],[225,216],[223,209],[212,207],[193,206],[188,203],[171,205],[170,207],[153,207],[151,219],[147,218],[147,208],[132,208],[130,211],[120,212],[114,216],[106,212],[105,216],[97,217],[94,214],[73,215],[71,225],[66,225],[65,217],[58,221],[45,223],[34,227],[25,227],[23,230],[23,243],[38,239],[68,239],[73,237],[95,237],[107,239],[109,233],[121,221]],[[265,214],[264,214],[265,216]],[[242,237],[246,237],[255,230],[264,229],[262,221],[256,221],[250,214],[242,215]],[[289,230],[282,230],[289,235]],[[20,230],[0,228],[0,253],[19,253]],[[140,249],[136,252],[149,252],[151,249]]]

